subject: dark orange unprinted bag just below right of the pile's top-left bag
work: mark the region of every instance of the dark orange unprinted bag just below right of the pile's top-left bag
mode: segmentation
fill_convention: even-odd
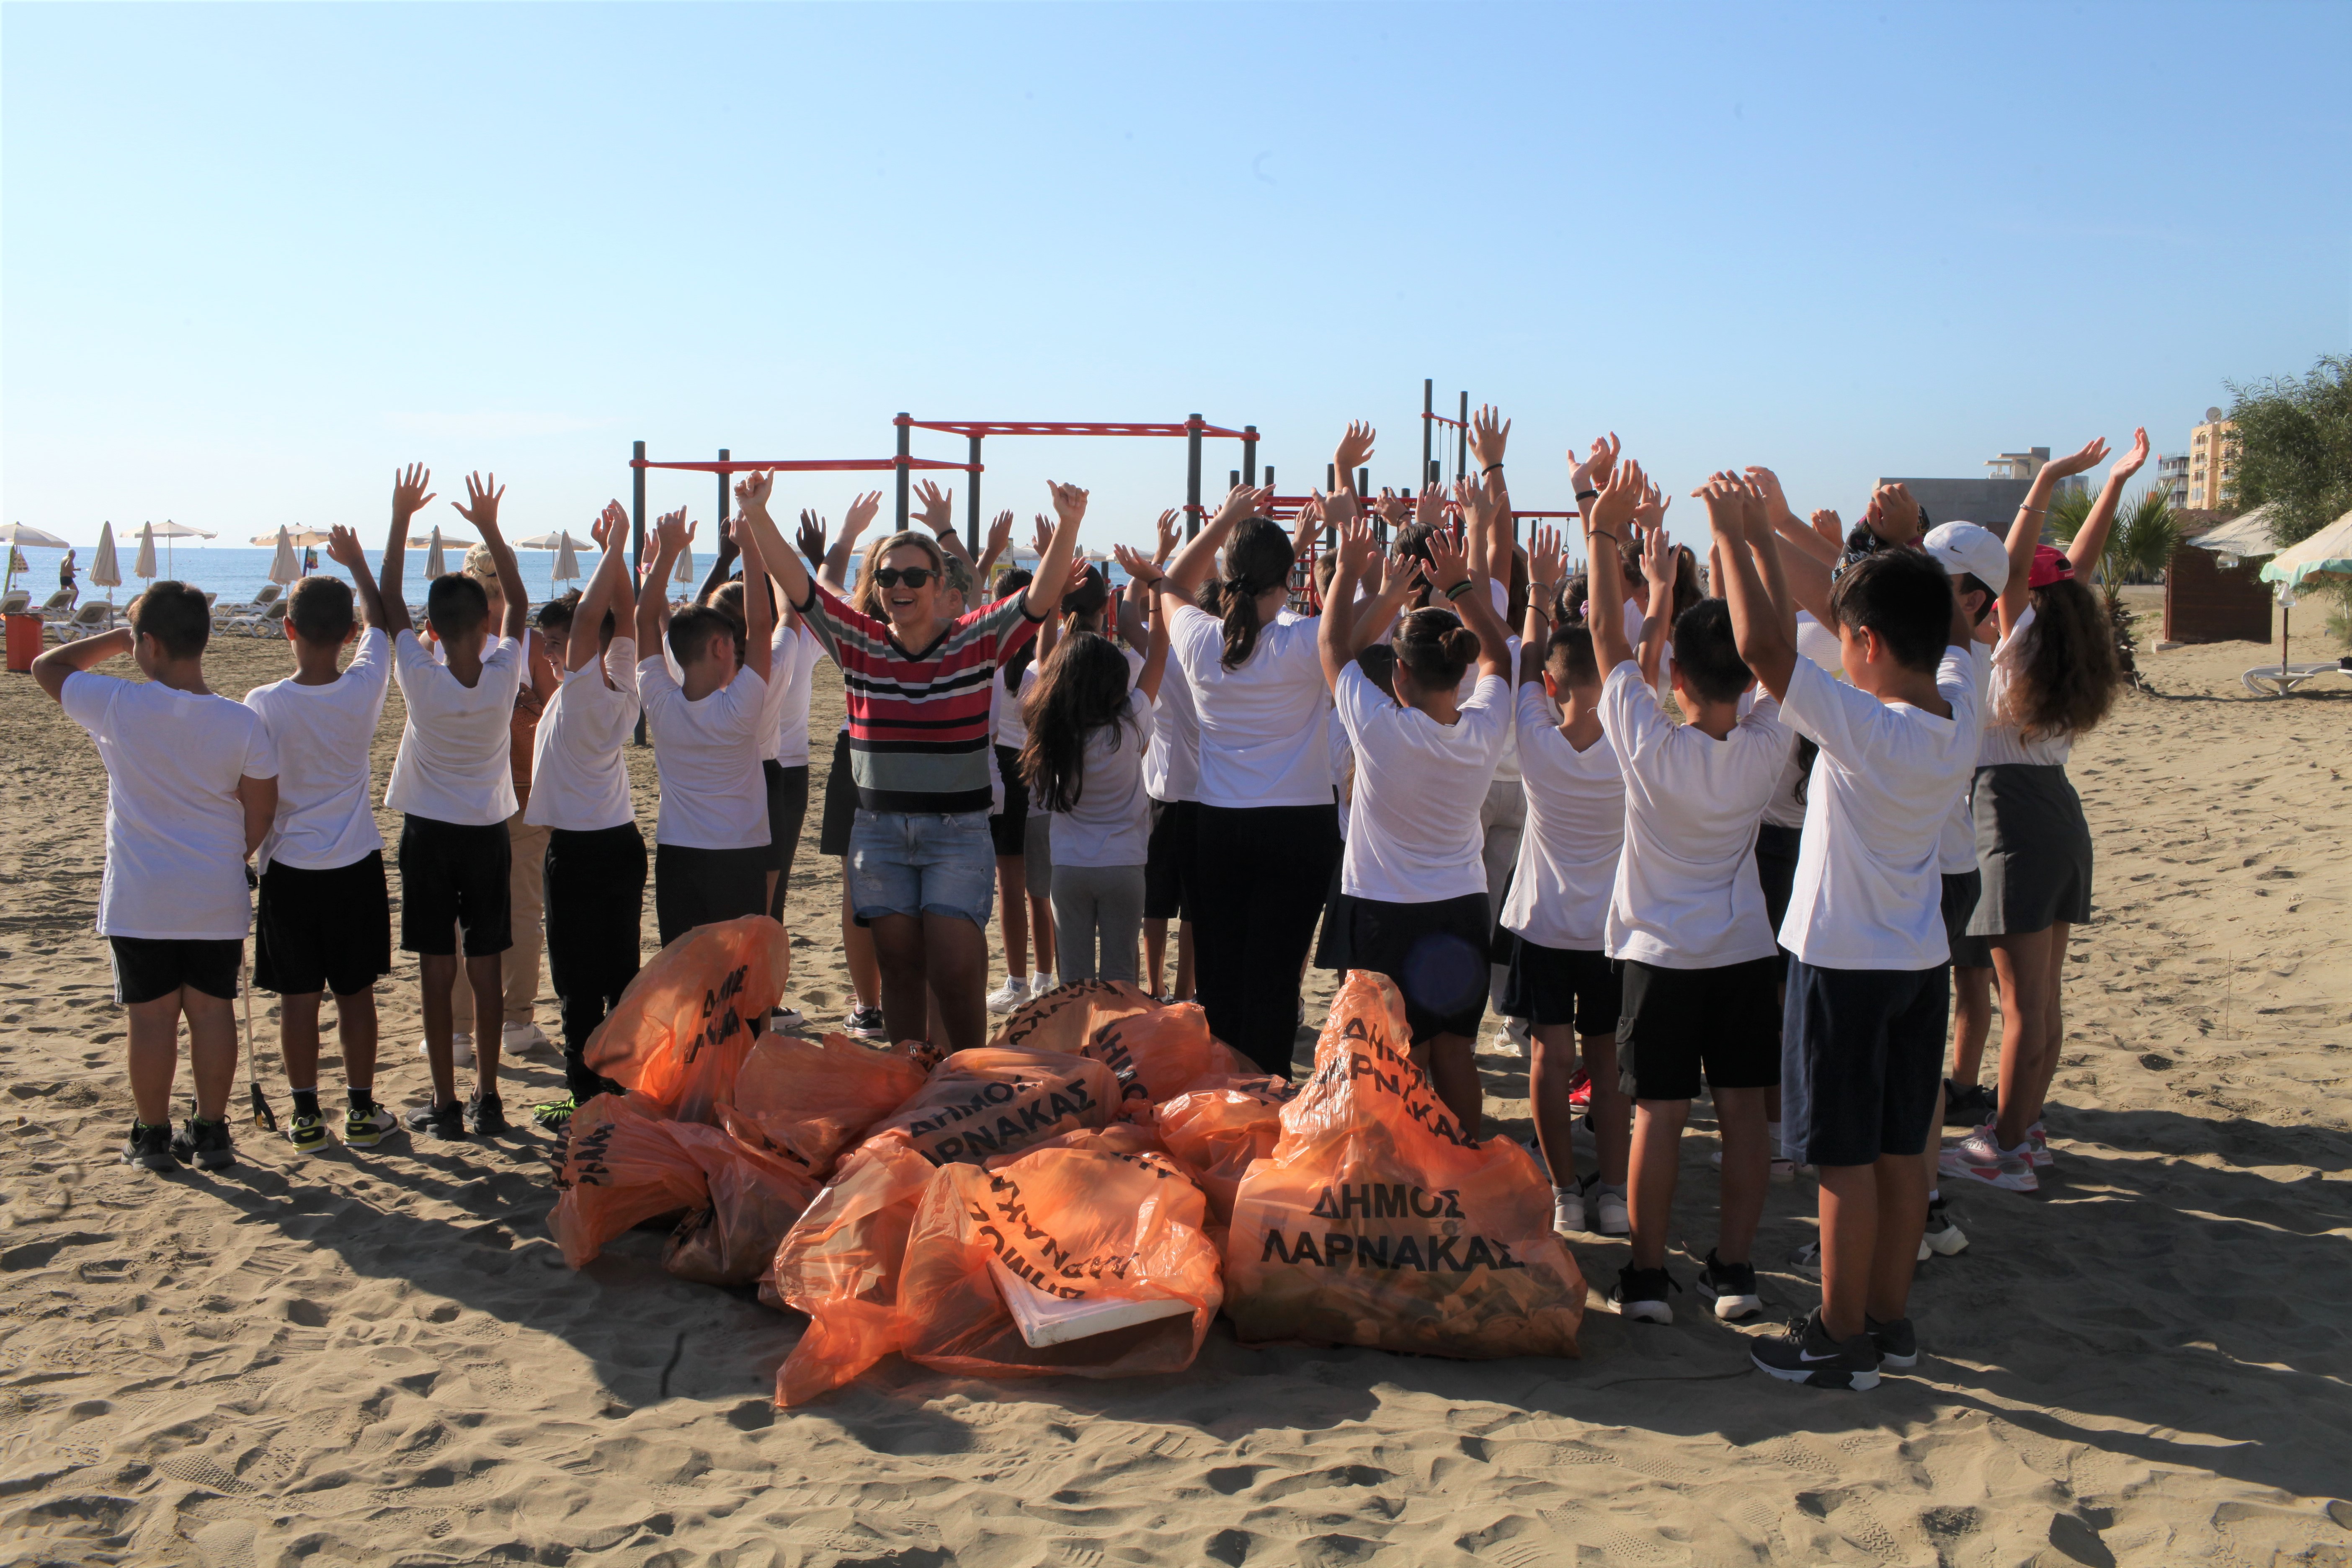
[[[842,1150],[922,1088],[929,1067],[903,1048],[849,1034],[764,1034],[736,1072],[720,1121],[743,1143],[769,1147],[823,1178]]]

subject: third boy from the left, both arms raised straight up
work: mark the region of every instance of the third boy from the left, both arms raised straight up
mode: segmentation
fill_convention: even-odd
[[[456,1098],[449,990],[459,976],[459,933],[466,940],[463,973],[473,987],[475,1018],[499,1016],[499,954],[513,943],[508,870],[513,846],[506,818],[515,816],[510,766],[515,691],[524,677],[522,595],[508,595],[496,628],[487,625],[489,595],[459,571],[433,578],[426,621],[447,663],[435,663],[400,597],[407,564],[409,520],[433,498],[423,463],[393,484],[393,534],[383,545],[383,625],[393,635],[393,679],[407,701],[400,755],[383,788],[383,804],[405,813],[400,825],[400,945],[416,954],[423,987],[426,1060],[433,1098],[407,1114],[409,1131],[494,1138],[506,1131],[499,1098],[499,1046],[489,1030],[475,1041],[475,1093]],[[496,475],[466,475],[466,501],[456,515],[482,531],[499,578],[520,583],[515,552],[499,534]],[[489,646],[485,646],[485,642]]]

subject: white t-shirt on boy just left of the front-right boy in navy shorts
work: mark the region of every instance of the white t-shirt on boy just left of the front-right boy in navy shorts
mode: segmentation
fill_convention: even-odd
[[[1609,891],[1606,950],[1656,969],[1719,969],[1773,954],[1750,853],[1788,759],[1778,703],[1715,741],[1672,724],[1635,661],[1602,682],[1602,729],[1625,773],[1625,851]],[[1936,802],[1938,809],[1943,802]]]

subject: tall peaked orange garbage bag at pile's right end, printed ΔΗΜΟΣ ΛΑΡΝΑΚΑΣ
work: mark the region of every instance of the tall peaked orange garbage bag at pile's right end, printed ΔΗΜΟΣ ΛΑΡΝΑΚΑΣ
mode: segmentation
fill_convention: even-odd
[[[1439,1356],[1573,1356],[1585,1279],[1552,1232],[1552,1190],[1510,1138],[1465,1143],[1406,1056],[1397,987],[1350,971],[1249,1166],[1225,1239],[1242,1340]]]

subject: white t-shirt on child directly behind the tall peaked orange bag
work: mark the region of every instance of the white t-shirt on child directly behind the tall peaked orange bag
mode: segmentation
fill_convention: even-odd
[[[1484,893],[1486,835],[1477,813],[1510,729],[1503,677],[1482,677],[1454,724],[1390,701],[1355,661],[1331,696],[1355,745],[1341,891],[1381,903]]]

